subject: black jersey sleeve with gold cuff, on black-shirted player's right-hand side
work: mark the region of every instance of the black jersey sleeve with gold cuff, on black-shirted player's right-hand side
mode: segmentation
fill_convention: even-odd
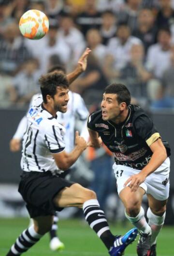
[[[135,120],[134,127],[138,136],[144,139],[148,146],[160,138],[160,134],[156,130],[152,120],[145,114]]]

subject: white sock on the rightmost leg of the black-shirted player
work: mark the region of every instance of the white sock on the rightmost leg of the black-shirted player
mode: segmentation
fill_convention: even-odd
[[[151,245],[157,243],[157,236],[164,224],[166,212],[162,216],[155,215],[150,208],[147,210],[147,218],[149,219],[148,224],[152,229]]]

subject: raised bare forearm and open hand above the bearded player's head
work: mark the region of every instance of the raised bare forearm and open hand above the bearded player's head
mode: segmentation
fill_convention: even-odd
[[[83,73],[87,68],[87,57],[91,50],[86,48],[80,59],[78,60],[77,67],[73,70],[72,73],[67,75],[67,79],[71,84],[81,73]]]

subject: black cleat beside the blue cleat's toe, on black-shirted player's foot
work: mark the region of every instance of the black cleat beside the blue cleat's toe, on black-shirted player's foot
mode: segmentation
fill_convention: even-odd
[[[140,233],[140,238],[137,244],[137,254],[138,256],[150,256],[150,239],[151,235]]]

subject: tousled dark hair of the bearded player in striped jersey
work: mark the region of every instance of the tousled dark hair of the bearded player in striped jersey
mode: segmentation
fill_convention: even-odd
[[[41,93],[44,103],[47,103],[47,95],[50,95],[52,98],[54,98],[54,95],[57,93],[58,86],[61,88],[69,88],[69,82],[66,75],[58,71],[42,75],[39,79],[39,83],[41,85]]]

